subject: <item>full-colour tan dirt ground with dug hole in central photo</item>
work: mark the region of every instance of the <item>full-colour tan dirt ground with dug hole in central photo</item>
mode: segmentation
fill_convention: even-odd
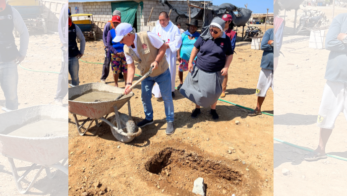
[[[87,41],[82,60],[103,63],[103,48],[102,41]],[[254,108],[262,51],[247,45],[236,47],[236,53],[224,99]],[[80,62],[80,85],[99,82],[101,72],[102,65]],[[139,70],[135,73],[140,74]],[[135,76],[134,80],[138,79]],[[112,72],[106,82],[114,85]],[[118,84],[124,87],[124,80]],[[131,112],[137,123],[144,118],[140,85],[133,92]],[[101,127],[93,123],[89,132],[80,136],[69,114],[69,195],[193,196],[198,177],[204,178],[208,196],[273,195],[273,117],[248,117],[247,110],[218,101],[219,121],[212,120],[210,108],[202,108],[202,114],[191,119],[194,104],[179,91],[175,94],[175,132],[171,136],[165,134],[163,100],[154,97],[154,124],[143,128],[130,143],[117,141],[105,123]],[[262,109],[273,113],[272,90]],[[126,105],[120,112],[127,114]],[[235,149],[231,154],[229,146]]]

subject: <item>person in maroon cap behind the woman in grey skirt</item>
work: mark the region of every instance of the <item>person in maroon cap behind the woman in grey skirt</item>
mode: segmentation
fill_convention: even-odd
[[[230,40],[231,40],[231,48],[232,48],[232,51],[234,51],[235,44],[236,44],[237,33],[232,30],[232,28],[233,28],[232,16],[230,14],[224,14],[222,16],[222,19],[225,21],[224,32],[230,38]],[[227,90],[227,83],[228,83],[228,74],[224,76],[224,80],[223,80],[223,84],[222,84],[223,92],[221,94],[221,97],[225,97],[226,96],[225,92]]]

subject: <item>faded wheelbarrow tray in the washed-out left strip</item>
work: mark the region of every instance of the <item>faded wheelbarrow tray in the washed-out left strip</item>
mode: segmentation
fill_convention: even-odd
[[[37,121],[66,122],[66,135],[22,137],[6,135]],[[49,166],[68,157],[68,115],[66,108],[39,105],[0,114],[0,153],[38,165]],[[47,128],[48,131],[50,128]]]

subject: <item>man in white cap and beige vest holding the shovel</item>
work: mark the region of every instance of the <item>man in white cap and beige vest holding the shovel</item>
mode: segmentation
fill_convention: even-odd
[[[149,77],[141,82],[141,100],[146,118],[137,124],[138,127],[145,127],[153,124],[152,108],[152,89],[154,83],[158,83],[163,96],[166,120],[168,122],[166,134],[171,135],[173,129],[173,97],[171,95],[171,74],[169,64],[164,58],[167,45],[160,37],[150,31],[135,33],[131,24],[120,23],[116,27],[116,37],[114,42],[124,44],[124,54],[128,64],[128,74],[124,93],[128,94],[131,90],[129,87],[135,74],[134,61],[138,62],[137,68],[140,69],[141,75],[144,75],[153,66],[153,72]]]

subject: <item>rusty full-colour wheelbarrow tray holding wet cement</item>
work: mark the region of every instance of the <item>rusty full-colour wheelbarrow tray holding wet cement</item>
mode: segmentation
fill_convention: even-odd
[[[72,114],[89,117],[91,119],[100,119],[112,112],[115,112],[114,106],[118,110],[124,106],[124,104],[130,100],[134,93],[131,92],[128,95],[124,95],[118,100],[112,101],[100,101],[100,102],[80,102],[73,101],[79,96],[82,96],[86,93],[93,91],[105,92],[105,93],[114,93],[115,99],[117,95],[124,92],[124,89],[118,88],[115,86],[110,86],[104,83],[88,83],[75,87],[69,88],[69,112]]]

